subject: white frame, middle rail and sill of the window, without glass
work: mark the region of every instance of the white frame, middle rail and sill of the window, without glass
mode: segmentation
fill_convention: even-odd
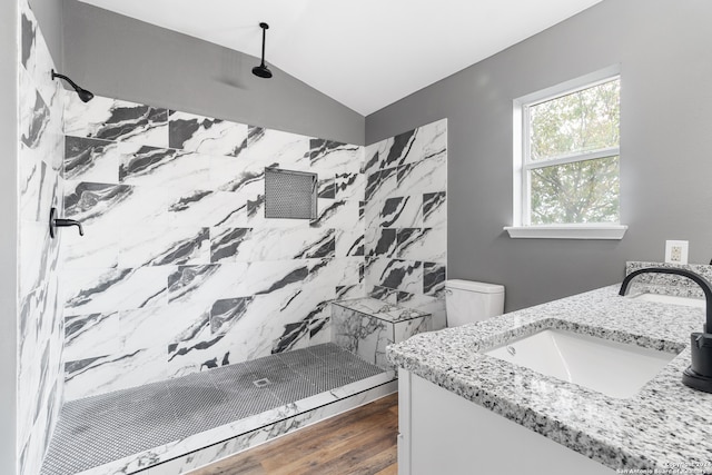
[[[547,238],[547,239],[622,239],[627,226],[620,224],[557,224],[531,225],[530,222],[530,182],[531,170],[575,161],[593,160],[596,158],[620,157],[619,147],[612,147],[593,152],[572,154],[552,160],[531,161],[530,158],[530,107],[546,102],[565,95],[589,89],[601,83],[620,79],[621,67],[614,65],[599,71],[562,82],[556,86],[520,97],[513,101],[514,117],[514,222],[504,229],[512,238]]]

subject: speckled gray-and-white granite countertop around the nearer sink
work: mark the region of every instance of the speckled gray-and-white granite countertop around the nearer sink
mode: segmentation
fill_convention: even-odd
[[[702,330],[704,310],[620,297],[619,288],[419,334],[389,346],[387,356],[395,365],[613,469],[712,472],[712,394],[681,380],[690,365],[690,334]],[[478,353],[541,328],[681,353],[627,399]]]

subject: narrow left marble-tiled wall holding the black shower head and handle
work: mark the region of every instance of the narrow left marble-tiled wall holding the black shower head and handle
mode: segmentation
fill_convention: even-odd
[[[34,14],[18,2],[19,291],[17,449],[19,474],[39,473],[62,396],[59,244],[49,237],[50,207],[62,206],[62,101]]]

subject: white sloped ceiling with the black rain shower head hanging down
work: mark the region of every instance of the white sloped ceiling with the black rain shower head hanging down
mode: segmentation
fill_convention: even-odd
[[[363,116],[601,0],[81,0],[259,57]],[[257,65],[257,62],[256,62]]]

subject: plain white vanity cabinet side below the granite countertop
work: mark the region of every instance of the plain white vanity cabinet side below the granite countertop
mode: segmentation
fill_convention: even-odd
[[[398,475],[616,472],[400,369]]]

